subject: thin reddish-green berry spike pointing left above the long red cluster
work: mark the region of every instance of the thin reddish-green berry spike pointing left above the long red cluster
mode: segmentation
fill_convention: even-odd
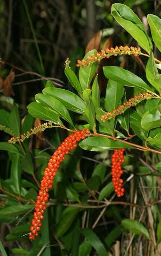
[[[27,131],[25,134],[21,134],[20,136],[13,136],[10,140],[8,140],[9,143],[14,144],[17,141],[23,141],[24,139],[28,139],[31,135],[37,134],[40,131],[45,131],[46,128],[52,128],[54,127],[52,122],[45,122],[39,126],[36,126],[34,128],[31,128],[30,132]]]

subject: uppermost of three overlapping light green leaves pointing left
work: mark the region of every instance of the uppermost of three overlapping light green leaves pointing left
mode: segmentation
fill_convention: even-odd
[[[76,94],[60,88],[45,88],[43,93],[57,98],[64,106],[76,113],[83,114],[86,107],[85,102]]]

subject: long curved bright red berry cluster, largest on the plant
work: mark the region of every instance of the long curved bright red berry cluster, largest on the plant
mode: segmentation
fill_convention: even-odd
[[[31,232],[29,233],[30,240],[34,240],[35,236],[38,236],[38,231],[42,225],[41,220],[44,219],[43,213],[46,209],[46,202],[49,197],[48,189],[52,188],[53,179],[56,176],[60,163],[65,159],[65,155],[69,154],[69,150],[77,147],[77,142],[81,139],[85,139],[88,133],[88,129],[83,129],[76,131],[74,134],[70,134],[60,146],[58,146],[50,158],[47,168],[44,171],[41,189],[39,190],[35,204],[34,219],[32,219]]]

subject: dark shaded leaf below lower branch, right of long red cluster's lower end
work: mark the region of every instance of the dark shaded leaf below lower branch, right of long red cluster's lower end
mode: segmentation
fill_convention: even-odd
[[[57,237],[60,237],[69,229],[70,225],[72,224],[73,220],[76,218],[79,211],[80,209],[78,209],[77,207],[67,207],[63,211],[61,215],[61,219],[58,222],[55,230],[55,234]]]

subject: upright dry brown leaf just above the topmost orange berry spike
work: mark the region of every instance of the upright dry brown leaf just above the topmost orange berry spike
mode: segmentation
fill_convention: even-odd
[[[85,49],[85,53],[87,53],[88,51],[93,50],[93,49],[100,50],[101,39],[102,39],[102,36],[100,34],[100,31],[96,32],[94,34],[94,36],[88,42],[86,49]]]

